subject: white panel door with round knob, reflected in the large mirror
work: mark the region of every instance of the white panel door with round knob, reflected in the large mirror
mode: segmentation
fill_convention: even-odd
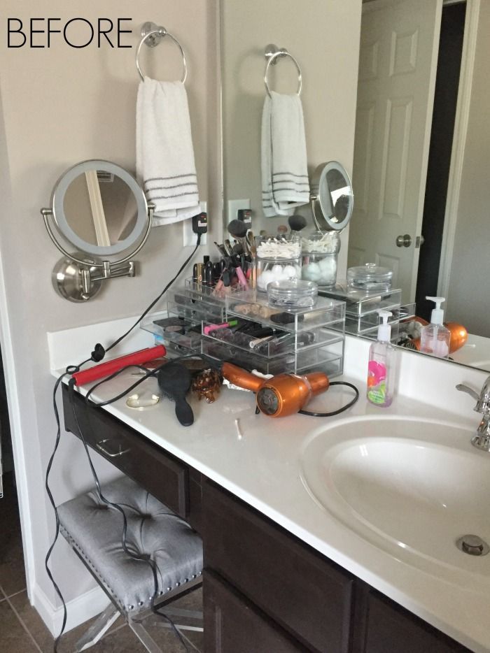
[[[348,265],[393,270],[414,301],[442,0],[373,0],[360,36]],[[397,247],[398,236],[409,247]]]

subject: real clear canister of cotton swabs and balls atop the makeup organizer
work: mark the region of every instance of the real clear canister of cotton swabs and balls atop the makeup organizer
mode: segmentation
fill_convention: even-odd
[[[255,287],[260,292],[266,292],[271,281],[300,278],[300,236],[255,236]]]

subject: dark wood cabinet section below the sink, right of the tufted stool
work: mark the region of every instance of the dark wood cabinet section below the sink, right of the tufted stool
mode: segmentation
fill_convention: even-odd
[[[202,498],[206,653],[468,652],[209,480]]]

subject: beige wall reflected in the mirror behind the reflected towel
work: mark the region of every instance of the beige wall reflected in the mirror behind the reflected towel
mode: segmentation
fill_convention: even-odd
[[[223,131],[225,204],[251,199],[253,230],[276,231],[287,218],[265,218],[260,203],[260,120],[267,43],[286,48],[302,69],[308,168],[337,160],[351,174],[356,124],[360,0],[223,0]],[[293,93],[295,66],[269,67],[269,86]],[[309,207],[298,210],[313,228]],[[342,238],[339,275],[346,268]]]

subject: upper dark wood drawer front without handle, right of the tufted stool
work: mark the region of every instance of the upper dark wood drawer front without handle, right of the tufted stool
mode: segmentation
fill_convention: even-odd
[[[316,651],[348,652],[353,576],[210,481],[204,567]]]

